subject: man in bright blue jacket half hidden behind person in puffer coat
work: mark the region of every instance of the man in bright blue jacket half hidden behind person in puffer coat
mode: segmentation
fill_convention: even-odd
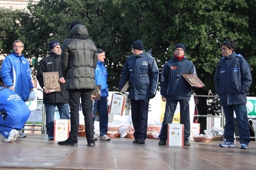
[[[110,137],[108,133],[108,71],[104,66],[104,60],[106,59],[105,52],[100,48],[97,48],[98,61],[95,68],[95,83],[101,85],[100,100],[94,100],[93,104],[93,121],[95,120],[96,111],[99,111],[100,115],[100,136],[102,141],[109,141]],[[94,138],[97,140],[97,138]]]

